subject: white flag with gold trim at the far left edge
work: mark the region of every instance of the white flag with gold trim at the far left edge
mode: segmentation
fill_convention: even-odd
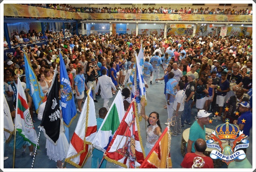
[[[6,142],[9,142],[12,134],[14,133],[14,125],[12,122],[12,116],[10,112],[10,108],[8,106],[7,100],[4,96],[4,136]]]

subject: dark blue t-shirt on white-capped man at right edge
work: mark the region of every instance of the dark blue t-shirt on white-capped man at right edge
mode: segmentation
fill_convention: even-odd
[[[241,106],[241,105],[240,105]],[[246,120],[244,123],[242,120]],[[238,118],[238,125],[244,124],[243,133],[246,136],[250,136],[250,129],[252,128],[252,112],[243,112]]]

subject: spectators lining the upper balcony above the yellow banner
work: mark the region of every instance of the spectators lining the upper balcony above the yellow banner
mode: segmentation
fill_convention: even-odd
[[[103,8],[94,8],[94,7],[81,7],[81,8],[75,8],[72,7],[69,4],[27,4],[27,5],[33,5],[33,6],[39,6],[42,8],[50,8],[54,10],[63,10],[63,11],[69,11],[69,12],[91,12],[91,13],[139,13],[139,14],[146,14],[146,13],[157,13],[157,14],[232,14],[232,15],[252,15],[252,8],[250,10],[248,8],[242,9],[242,10],[236,10],[236,9],[220,9],[220,8],[212,8],[211,10],[209,7],[207,8],[190,8],[190,7],[184,7],[177,9],[177,8],[171,8],[171,7],[147,7],[147,8],[141,8],[141,7],[103,7]]]

